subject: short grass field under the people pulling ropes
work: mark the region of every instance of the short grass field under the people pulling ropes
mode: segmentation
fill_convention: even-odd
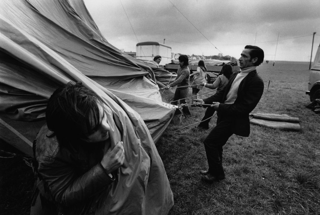
[[[253,112],[299,117],[301,130],[252,125],[249,137],[231,136],[224,146],[225,180],[211,185],[200,181],[199,170],[207,169],[203,140],[209,130],[183,128],[200,121],[204,108],[190,107],[190,118],[169,125],[156,146],[174,195],[170,215],[320,213],[320,115],[305,107],[310,103],[305,95],[308,68],[298,62],[257,68],[265,90]],[[215,121],[216,116],[212,128]],[[0,159],[0,170],[0,213],[28,214],[31,168],[17,157]]]

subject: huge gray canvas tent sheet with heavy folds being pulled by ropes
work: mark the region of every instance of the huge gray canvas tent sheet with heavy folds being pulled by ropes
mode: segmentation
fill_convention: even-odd
[[[13,127],[5,129],[32,138],[53,91],[81,81],[109,107],[111,142],[123,141],[126,152],[121,180],[96,213],[167,214],[173,196],[153,140],[176,108],[161,101],[151,67],[110,45],[81,0],[0,0],[0,5],[0,117]],[[8,135],[1,129],[1,138]]]

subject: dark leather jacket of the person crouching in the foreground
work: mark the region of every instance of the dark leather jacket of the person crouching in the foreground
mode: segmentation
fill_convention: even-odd
[[[74,146],[61,147],[46,125],[40,129],[34,141],[37,174],[44,184],[40,194],[51,196],[47,201],[53,201],[59,214],[90,214],[101,204],[115,175],[110,177],[100,165],[104,145]]]

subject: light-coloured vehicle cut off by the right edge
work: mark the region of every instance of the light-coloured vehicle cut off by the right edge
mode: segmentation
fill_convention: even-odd
[[[320,45],[310,69],[308,91],[306,91],[306,94],[310,96],[311,102],[320,99]]]

